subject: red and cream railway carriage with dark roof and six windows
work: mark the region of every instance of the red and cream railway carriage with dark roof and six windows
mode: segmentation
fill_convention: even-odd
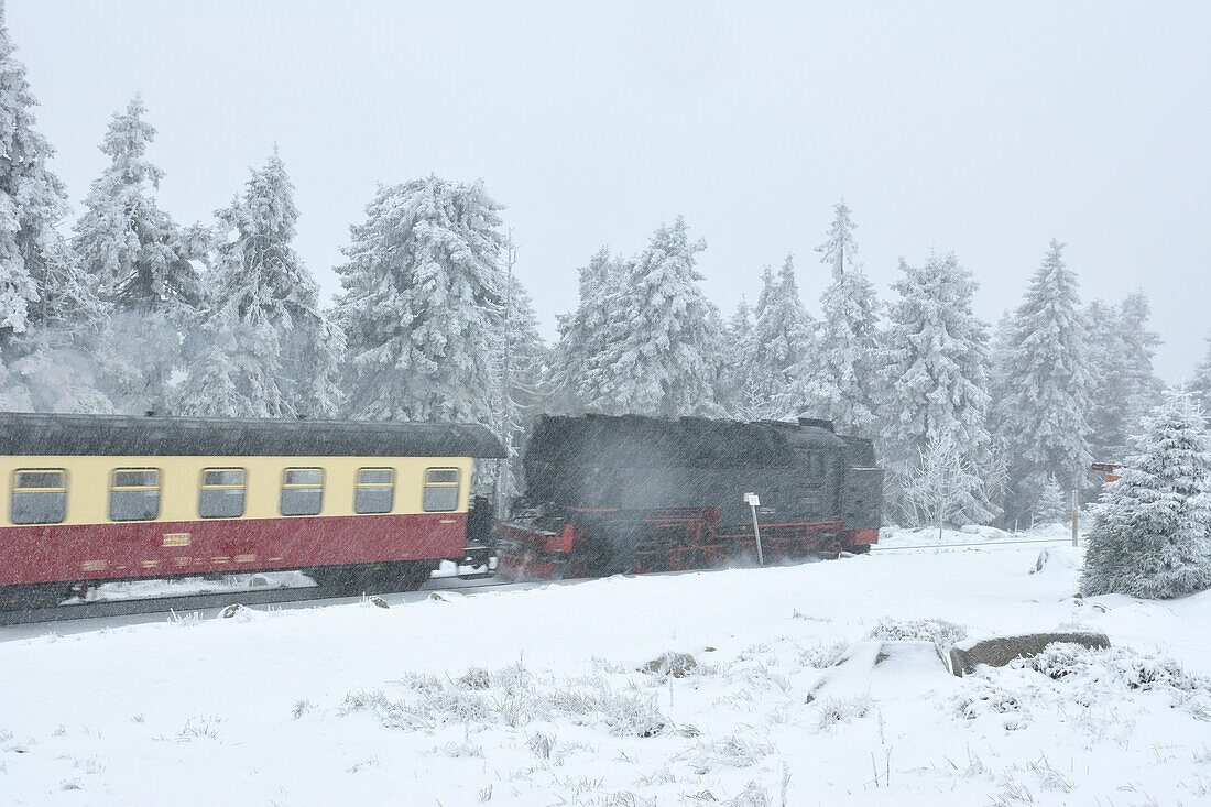
[[[472,463],[501,456],[476,425],[0,414],[0,607],[202,573],[415,585],[464,556]]]

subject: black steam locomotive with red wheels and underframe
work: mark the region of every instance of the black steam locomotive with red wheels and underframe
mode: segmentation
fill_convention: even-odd
[[[883,511],[871,441],[828,420],[540,416],[498,573],[595,577],[869,551]]]

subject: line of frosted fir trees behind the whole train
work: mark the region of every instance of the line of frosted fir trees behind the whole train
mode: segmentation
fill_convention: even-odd
[[[546,345],[501,205],[482,182],[381,185],[351,225],[331,307],[293,248],[276,149],[214,221],[159,207],[155,128],[136,97],[64,234],[67,190],[0,25],[0,407],[22,411],[477,422],[516,447],[536,412],[823,417],[876,437],[903,523],[1028,523],[1094,493],[1159,402],[1143,294],[1084,304],[1063,245],[995,328],[953,253],[900,262],[891,299],[865,273],[844,202],[822,228],[819,317],[793,256],[724,317],[682,218],[578,271]],[[1211,350],[1189,385],[1211,408]]]

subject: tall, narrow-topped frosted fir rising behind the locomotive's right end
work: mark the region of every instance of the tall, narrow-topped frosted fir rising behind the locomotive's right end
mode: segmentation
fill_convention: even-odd
[[[813,359],[817,406],[840,429],[866,434],[878,417],[879,299],[857,258],[849,207],[842,201],[833,210],[828,239],[816,247],[821,263],[832,268]]]

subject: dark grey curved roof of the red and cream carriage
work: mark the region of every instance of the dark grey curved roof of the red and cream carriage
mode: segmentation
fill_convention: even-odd
[[[504,457],[481,425],[0,413],[0,456]]]

